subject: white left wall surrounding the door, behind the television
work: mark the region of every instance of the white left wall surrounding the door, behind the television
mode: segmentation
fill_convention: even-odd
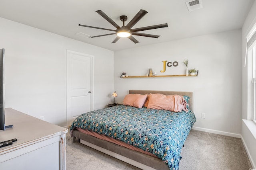
[[[112,103],[113,51],[0,18],[2,48],[6,107],[66,126],[67,49],[94,56],[94,109]]]

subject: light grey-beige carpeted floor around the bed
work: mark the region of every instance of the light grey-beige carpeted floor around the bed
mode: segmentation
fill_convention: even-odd
[[[140,170],[66,136],[67,170]],[[180,170],[249,170],[241,139],[191,130],[182,148]]]

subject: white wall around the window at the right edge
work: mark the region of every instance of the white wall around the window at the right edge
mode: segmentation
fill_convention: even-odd
[[[251,61],[246,61],[244,67],[245,51],[246,51],[246,36],[252,26],[256,23],[256,1],[252,5],[244,25],[242,27],[242,139],[246,147],[246,151],[250,158],[253,168],[256,168],[256,124],[250,121],[252,119],[252,96],[248,95],[252,92],[252,77],[248,76],[251,73]],[[247,120],[248,119],[248,120]]]

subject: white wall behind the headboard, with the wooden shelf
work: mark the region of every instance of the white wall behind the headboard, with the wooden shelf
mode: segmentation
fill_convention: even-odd
[[[157,41],[157,40],[156,40]],[[114,52],[114,89],[118,103],[128,90],[194,92],[195,127],[241,133],[241,29],[148,45]],[[185,74],[182,63],[199,70],[198,77],[120,78],[145,75],[152,68],[158,75]],[[162,61],[178,61],[167,67]],[[201,113],[206,118],[201,118]]]

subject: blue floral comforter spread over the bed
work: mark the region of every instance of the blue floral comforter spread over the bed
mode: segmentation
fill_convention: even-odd
[[[194,125],[192,111],[136,108],[118,105],[84,113],[70,127],[104,134],[162,159],[170,170],[178,170],[181,149]]]

